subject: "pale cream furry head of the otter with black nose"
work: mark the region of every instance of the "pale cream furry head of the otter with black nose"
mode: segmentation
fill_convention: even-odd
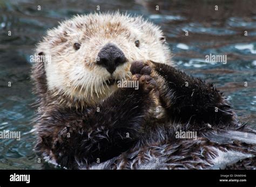
[[[44,64],[48,90],[71,100],[95,104],[131,77],[131,62],[170,61],[159,27],[114,14],[76,16],[48,31],[37,53],[51,56]]]

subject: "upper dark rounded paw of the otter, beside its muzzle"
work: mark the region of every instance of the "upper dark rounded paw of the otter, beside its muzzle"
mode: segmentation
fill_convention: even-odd
[[[134,61],[131,64],[130,71],[132,75],[140,74],[140,75],[150,75],[151,74],[151,67],[144,63],[143,61]]]

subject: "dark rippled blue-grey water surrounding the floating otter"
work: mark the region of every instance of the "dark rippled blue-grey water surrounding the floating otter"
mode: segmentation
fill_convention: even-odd
[[[178,68],[215,83],[239,118],[256,128],[255,1],[0,0],[0,131],[21,132],[20,141],[0,139],[0,169],[48,167],[37,163],[32,150],[35,136],[30,121],[34,112],[30,104],[35,96],[31,93],[29,56],[48,28],[77,13],[97,11],[97,5],[100,11],[136,13],[160,25]],[[227,63],[206,62],[205,55],[210,53],[227,55]]]

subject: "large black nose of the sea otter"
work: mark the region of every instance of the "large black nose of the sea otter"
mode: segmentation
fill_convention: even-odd
[[[106,68],[110,74],[126,61],[124,53],[116,45],[108,43],[98,53],[97,63]]]

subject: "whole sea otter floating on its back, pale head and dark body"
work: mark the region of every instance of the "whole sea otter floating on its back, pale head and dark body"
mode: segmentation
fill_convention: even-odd
[[[142,17],[75,16],[49,30],[36,54],[48,59],[32,67],[36,151],[50,162],[69,169],[255,168],[255,131],[239,123],[213,84],[174,67],[163,32]],[[125,81],[138,89],[120,88]]]

